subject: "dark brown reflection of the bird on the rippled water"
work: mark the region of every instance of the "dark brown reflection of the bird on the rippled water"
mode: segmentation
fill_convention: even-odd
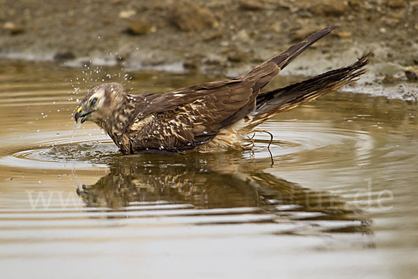
[[[193,209],[251,207],[277,220],[341,220],[328,232],[370,233],[342,197],[309,190],[263,170],[270,159],[243,159],[242,153],[152,154],[115,157],[110,173],[77,194],[87,206],[126,209],[133,204],[189,204]]]

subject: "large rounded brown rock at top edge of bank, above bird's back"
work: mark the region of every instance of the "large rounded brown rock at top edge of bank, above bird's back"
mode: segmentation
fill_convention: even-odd
[[[189,1],[176,1],[169,9],[169,20],[182,31],[203,31],[217,27],[218,22],[207,8]]]

